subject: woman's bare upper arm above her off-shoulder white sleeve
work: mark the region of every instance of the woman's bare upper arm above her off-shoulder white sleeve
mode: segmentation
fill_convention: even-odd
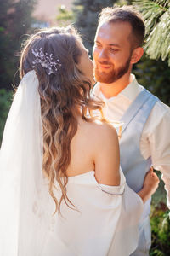
[[[116,129],[101,124],[94,137],[94,166],[98,183],[118,186],[120,184],[120,153]]]

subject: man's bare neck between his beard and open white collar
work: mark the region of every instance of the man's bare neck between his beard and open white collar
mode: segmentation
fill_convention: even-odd
[[[106,98],[111,98],[117,96],[123,89],[127,87],[128,84],[132,82],[130,74],[122,76],[116,82],[111,84],[99,83],[100,90]]]

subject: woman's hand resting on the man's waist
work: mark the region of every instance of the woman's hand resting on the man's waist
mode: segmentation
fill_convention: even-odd
[[[150,171],[146,173],[144,178],[143,189],[141,189],[138,193],[144,202],[147,201],[150,196],[156,192],[159,183],[159,177],[157,177],[156,173],[153,172],[153,167],[151,167]]]

